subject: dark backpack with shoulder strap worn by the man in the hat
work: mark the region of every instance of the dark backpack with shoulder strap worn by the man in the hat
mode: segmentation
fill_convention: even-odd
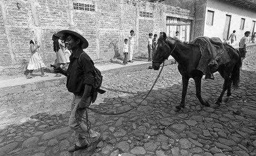
[[[80,66],[80,58],[82,54],[86,54],[86,53],[81,53],[79,58],[78,58],[78,64]],[[103,76],[101,75],[101,72],[99,69],[97,69],[95,66],[94,67],[94,85],[93,88],[100,94],[105,93],[105,90],[100,89],[100,86],[102,84],[102,80],[103,80]]]

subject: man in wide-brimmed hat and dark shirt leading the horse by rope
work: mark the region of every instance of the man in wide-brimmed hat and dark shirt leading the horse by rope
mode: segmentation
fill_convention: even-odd
[[[59,31],[57,35],[65,41],[66,47],[72,51],[67,72],[55,68],[55,72],[67,76],[67,89],[74,93],[69,126],[74,130],[76,144],[71,146],[68,151],[73,152],[78,149],[91,151],[97,147],[102,138],[98,132],[91,129],[86,110],[92,102],[94,84],[94,63],[83,51],[88,47],[88,41],[79,33],[70,30]],[[84,116],[84,113],[87,115]]]

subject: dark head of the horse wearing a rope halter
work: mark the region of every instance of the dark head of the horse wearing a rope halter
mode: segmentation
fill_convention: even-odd
[[[155,47],[155,54],[153,56],[152,67],[155,70],[160,68],[160,65],[168,59],[171,48],[170,48],[170,40],[166,39],[165,33],[160,33],[160,37],[157,41],[157,45]]]

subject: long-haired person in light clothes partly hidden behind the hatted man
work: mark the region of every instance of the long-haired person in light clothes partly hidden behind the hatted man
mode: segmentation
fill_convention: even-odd
[[[52,36],[52,40],[53,40],[53,50],[56,53],[56,61],[55,61],[55,65],[60,68],[63,68],[63,66],[65,66],[65,64],[68,62],[66,55],[65,55],[65,43],[64,41],[61,39],[60,36],[58,36],[56,33],[53,34]],[[61,76],[61,74],[56,74],[55,76],[59,77]]]

